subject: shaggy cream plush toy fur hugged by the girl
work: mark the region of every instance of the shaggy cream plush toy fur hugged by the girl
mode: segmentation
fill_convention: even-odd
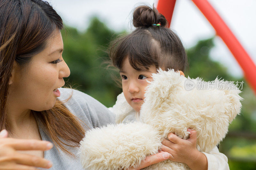
[[[188,83],[194,84],[194,88],[186,90]],[[200,83],[210,85],[198,89]],[[223,89],[218,89],[218,85]],[[239,114],[240,92],[235,84],[218,78],[205,82],[180,76],[174,70],[160,69],[153,74],[153,81],[146,89],[140,110],[141,122],[108,125],[86,132],[80,147],[81,163],[84,168],[93,170],[138,166],[146,156],[158,152],[170,132],[187,139],[188,128],[197,132],[198,151],[209,152],[225,137],[229,123]],[[127,112],[131,112],[131,107],[122,102],[115,107],[119,108],[116,122],[121,122]],[[189,168],[186,164],[165,160],[144,169]]]

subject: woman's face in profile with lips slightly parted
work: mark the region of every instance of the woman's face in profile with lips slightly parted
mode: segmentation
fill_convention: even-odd
[[[15,64],[10,81],[10,102],[21,109],[51,109],[60,95],[56,89],[64,86],[63,77],[70,74],[62,51],[62,37],[56,30],[48,39],[46,48],[33,56],[25,69]]]

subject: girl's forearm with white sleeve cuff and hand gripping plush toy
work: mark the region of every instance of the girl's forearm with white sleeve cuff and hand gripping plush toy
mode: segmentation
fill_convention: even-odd
[[[162,151],[170,153],[170,160],[182,162],[192,170],[229,170],[228,158],[214,148],[210,153],[199,152],[196,149],[196,131],[188,129],[191,133],[187,140],[181,139],[173,133],[168,134],[164,140]]]

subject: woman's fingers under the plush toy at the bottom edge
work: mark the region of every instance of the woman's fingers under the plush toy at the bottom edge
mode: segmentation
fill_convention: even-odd
[[[140,165],[136,168],[130,167],[128,170],[139,170],[145,168],[149,165],[156,164],[158,162],[162,162],[169,158],[169,153],[161,151],[160,153],[156,153],[154,155],[147,156],[143,161],[141,161]]]

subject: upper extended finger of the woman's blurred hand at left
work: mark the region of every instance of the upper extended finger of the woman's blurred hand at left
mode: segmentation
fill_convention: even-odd
[[[52,143],[48,141],[39,141],[39,140],[28,140],[28,139],[13,139],[9,138],[9,143],[6,145],[12,147],[15,150],[28,151],[28,150],[38,150],[46,151],[52,148]]]

